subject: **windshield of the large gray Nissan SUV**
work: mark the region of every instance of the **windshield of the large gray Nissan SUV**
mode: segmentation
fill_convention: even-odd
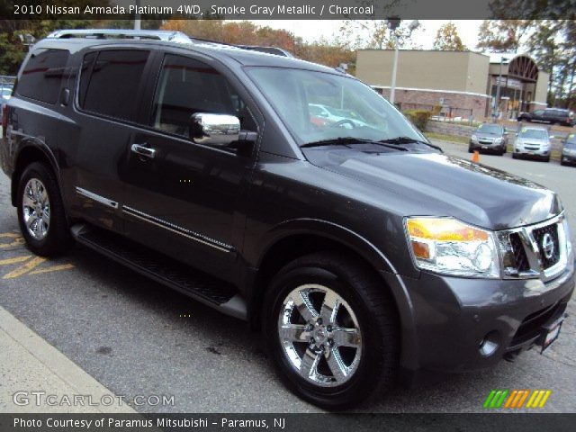
[[[392,104],[352,77],[284,67],[248,67],[247,73],[301,146],[342,137],[427,140]]]

